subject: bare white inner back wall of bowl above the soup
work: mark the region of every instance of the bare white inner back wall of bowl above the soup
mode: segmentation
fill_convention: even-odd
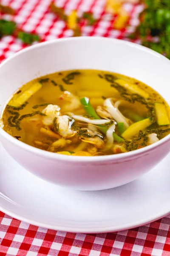
[[[4,61],[0,67],[0,112],[14,91],[48,73],[96,69],[134,77],[170,102],[170,61],[137,44],[106,38],[71,38],[34,45]]]

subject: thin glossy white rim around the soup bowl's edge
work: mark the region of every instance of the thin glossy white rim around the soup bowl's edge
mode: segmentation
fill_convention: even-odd
[[[139,50],[145,51],[148,54],[152,54],[155,55],[161,59],[163,59],[164,61],[167,61],[170,64],[170,60],[167,59],[164,55],[161,55],[158,52],[153,51],[152,49],[149,49],[147,47],[144,47],[140,44],[136,44],[133,42],[129,42],[129,41],[125,41],[125,40],[120,40],[120,39],[116,39],[116,38],[104,38],[104,37],[99,37],[99,36],[82,36],[82,37],[71,37],[71,38],[57,38],[57,39],[53,39],[50,41],[45,41],[45,42],[41,42],[38,44],[34,44],[31,45],[29,47],[26,47],[24,49],[21,49],[20,51],[16,52],[14,55],[12,55],[11,57],[8,57],[5,61],[3,61],[0,64],[0,68],[3,67],[6,63],[8,63],[9,61],[11,61],[12,59],[16,58],[19,55],[24,54],[25,52],[29,52],[32,49],[36,49],[39,47],[43,47],[45,45],[51,45],[51,44],[58,44],[58,43],[62,43],[65,41],[112,41],[115,44],[124,44],[124,45],[129,45],[132,48],[137,48]],[[4,110],[5,105],[3,106],[3,110]],[[3,113],[3,110],[1,111],[0,114]],[[158,148],[159,146],[163,145],[164,143],[167,143],[167,141],[170,141],[170,134],[168,134],[166,137],[164,137],[163,139],[159,140],[156,143],[153,143],[151,145],[148,145],[144,148],[140,148],[134,151],[129,151],[129,152],[124,152],[122,154],[111,154],[111,155],[104,155],[104,156],[95,156],[95,157],[91,157],[91,156],[86,156],[86,157],[82,157],[82,156],[68,156],[68,155],[63,155],[63,154],[54,154],[53,152],[48,152],[39,148],[35,148],[31,145],[28,145],[26,143],[23,143],[19,140],[16,140],[14,137],[12,137],[10,134],[8,134],[6,131],[3,130],[3,128],[0,126],[0,135],[2,137],[4,137],[6,140],[8,140],[10,143],[22,148],[25,151],[28,151],[32,154],[36,154],[39,155],[41,157],[46,157],[46,158],[50,158],[52,160],[65,160],[65,161],[70,161],[70,162],[100,162],[100,161],[116,161],[116,160],[124,160],[125,158],[136,158],[144,155],[144,154],[148,154],[150,151],[155,150],[156,148]]]

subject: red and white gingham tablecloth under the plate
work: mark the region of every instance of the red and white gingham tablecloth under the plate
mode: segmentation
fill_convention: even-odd
[[[93,12],[99,22],[94,26],[82,24],[82,35],[98,35],[125,39],[138,24],[142,6],[126,4],[130,12],[128,29],[113,30],[114,17],[104,11],[105,0],[56,0],[65,13],[77,9]],[[16,9],[16,15],[1,15],[14,20],[20,29],[35,32],[42,41],[72,36],[64,21],[48,10],[51,0],[2,0]],[[0,40],[0,61],[26,45],[13,36]],[[161,207],[161,206],[160,206]],[[0,212],[0,256],[170,256],[170,217],[143,227],[107,234],[75,234],[48,230],[18,221]]]

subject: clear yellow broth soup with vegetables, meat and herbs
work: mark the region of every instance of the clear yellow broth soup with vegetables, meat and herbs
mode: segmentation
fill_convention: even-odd
[[[170,133],[170,108],[146,84],[117,73],[71,70],[23,85],[2,128],[42,150],[102,156],[143,148]]]

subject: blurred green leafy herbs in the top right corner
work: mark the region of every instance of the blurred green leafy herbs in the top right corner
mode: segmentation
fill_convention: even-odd
[[[130,36],[141,38],[144,46],[170,58],[170,0],[144,0],[144,3],[140,25]]]

